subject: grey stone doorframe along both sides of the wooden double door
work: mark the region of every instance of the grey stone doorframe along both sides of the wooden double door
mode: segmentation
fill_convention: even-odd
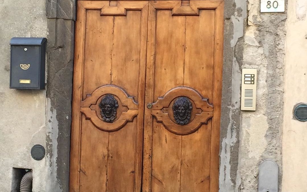
[[[220,190],[235,186],[238,167],[240,109],[232,92],[240,91],[246,2],[225,0],[224,63],[220,134]],[[240,14],[238,14],[240,12]],[[76,0],[46,0],[48,18],[46,102],[46,191],[68,191]],[[239,26],[240,25],[240,26]],[[238,79],[239,78],[239,79]],[[235,86],[233,86],[235,85]],[[239,93],[237,93],[239,94]],[[229,137],[230,135],[230,137]],[[235,139],[233,139],[235,138]],[[230,147],[231,145],[231,147]]]

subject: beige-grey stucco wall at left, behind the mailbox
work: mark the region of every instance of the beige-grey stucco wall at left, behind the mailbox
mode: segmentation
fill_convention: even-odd
[[[46,143],[46,91],[9,88],[10,39],[47,36],[45,1],[0,0],[0,18],[0,191],[11,191],[13,167],[33,169],[33,191],[45,191],[45,159],[30,150]]]

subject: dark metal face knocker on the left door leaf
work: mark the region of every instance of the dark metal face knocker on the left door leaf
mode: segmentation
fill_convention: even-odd
[[[105,96],[101,100],[99,108],[101,109],[100,115],[104,122],[112,123],[116,119],[118,101],[114,98],[113,95]]]

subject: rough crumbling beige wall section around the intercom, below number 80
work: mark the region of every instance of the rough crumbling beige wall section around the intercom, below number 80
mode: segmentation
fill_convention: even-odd
[[[285,13],[260,13],[260,1],[248,1],[242,68],[258,69],[255,112],[242,112],[240,128],[239,189],[258,189],[258,168],[274,160],[282,178],[283,82]],[[281,191],[281,189],[279,189]]]

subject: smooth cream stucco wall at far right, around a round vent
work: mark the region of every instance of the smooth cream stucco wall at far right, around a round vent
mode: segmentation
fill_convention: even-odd
[[[293,118],[293,107],[307,103],[307,1],[288,2],[282,191],[307,190],[307,122]]]

